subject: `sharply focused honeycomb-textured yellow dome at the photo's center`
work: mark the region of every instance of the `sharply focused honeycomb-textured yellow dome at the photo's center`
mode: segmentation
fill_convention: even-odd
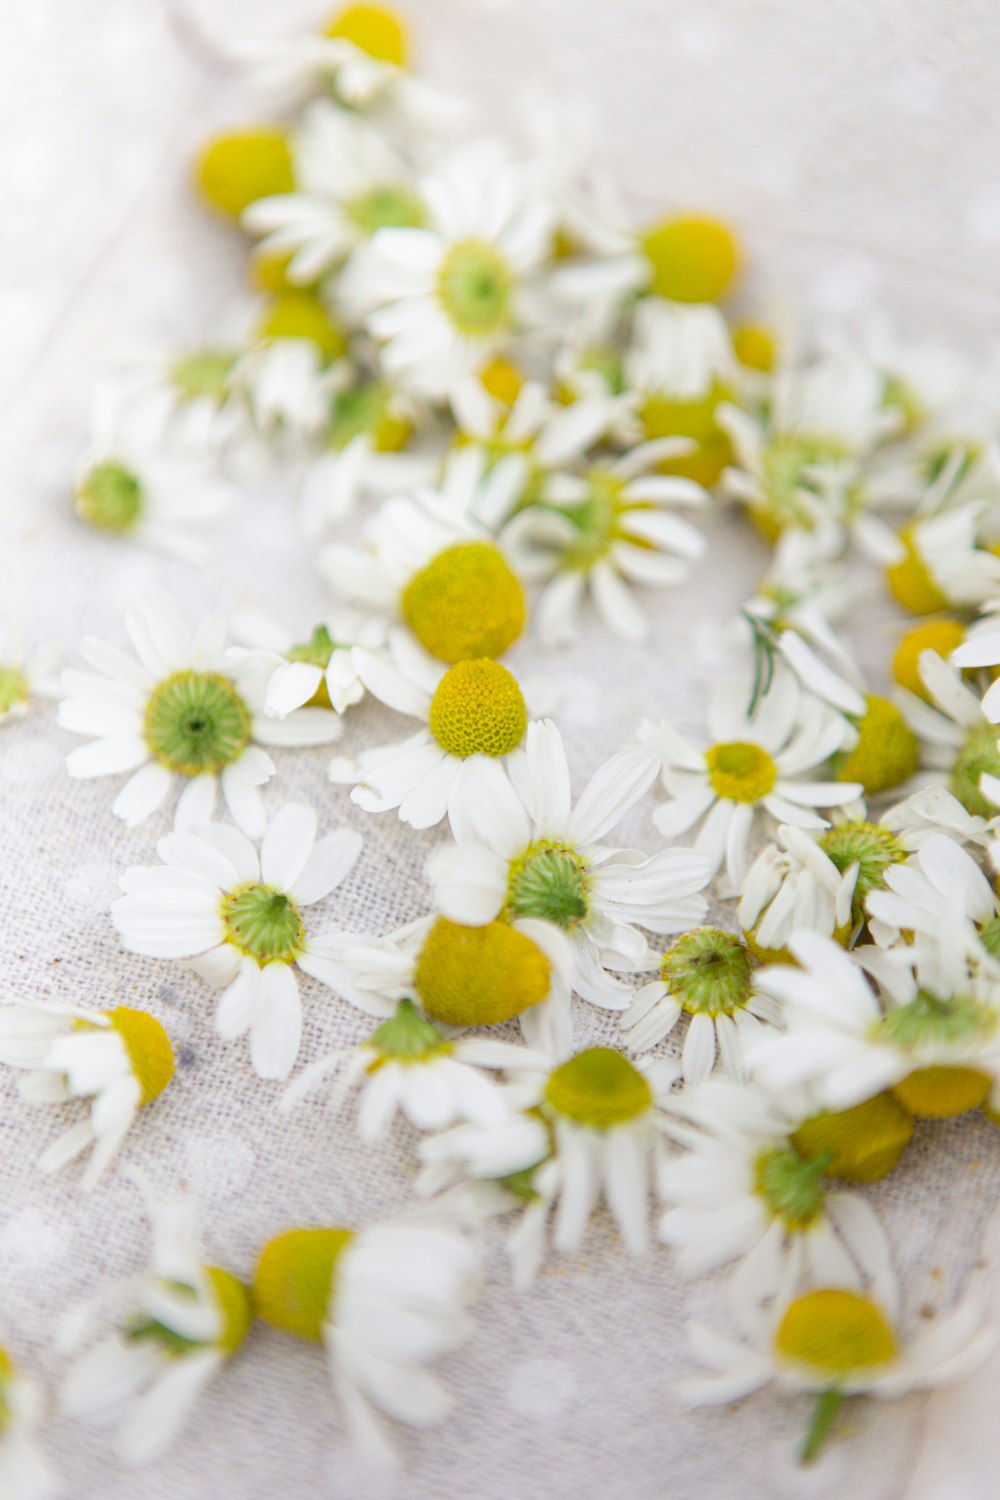
[[[430,700],[430,734],[460,760],[471,754],[510,754],[526,728],[525,699],[499,662],[457,662]]]

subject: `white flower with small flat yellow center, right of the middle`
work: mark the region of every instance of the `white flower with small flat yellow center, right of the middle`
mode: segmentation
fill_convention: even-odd
[[[705,819],[694,848],[712,870],[726,864],[733,891],[747,870],[754,822],[826,828],[817,808],[844,807],[861,795],[855,782],[813,780],[841,748],[847,724],[826,704],[804,696],[790,672],[777,674],[754,702],[747,678],[720,682],[709,708],[714,744],[700,750],[666,723],[643,723],[640,740],[660,754],[670,801],[652,820],[672,838]]]

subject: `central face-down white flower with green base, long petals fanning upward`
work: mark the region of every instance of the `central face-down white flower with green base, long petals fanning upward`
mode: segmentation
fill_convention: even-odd
[[[562,738],[543,720],[528,726],[508,772],[510,782],[469,762],[451,818],[456,843],[427,861],[435,902],[456,922],[505,914],[561,928],[573,988],[592,1005],[625,1010],[630,992],[604,970],[648,966],[637,926],[684,932],[706,909],[699,892],[709,867],[699,855],[664,849],[648,856],[603,843],[652,783],[655,754],[636,747],[612,756],[573,806]]]

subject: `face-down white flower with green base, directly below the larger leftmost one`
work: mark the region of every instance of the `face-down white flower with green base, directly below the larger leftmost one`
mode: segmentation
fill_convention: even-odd
[[[261,1078],[286,1078],[298,1056],[301,1002],[295,969],[327,982],[304,910],[351,873],[361,836],[351,828],[316,838],[316,814],[298,802],[276,813],[261,850],[235,828],[202,824],[172,832],[156,850],[162,866],[121,878],[111,908],[123,945],[153,958],[186,958],[216,988],[216,1030],[250,1034]]]

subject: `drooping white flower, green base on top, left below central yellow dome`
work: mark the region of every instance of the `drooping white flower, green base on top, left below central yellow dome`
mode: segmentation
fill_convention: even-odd
[[[361,1090],[357,1124],[364,1142],[382,1138],[397,1112],[415,1130],[444,1130],[466,1119],[492,1130],[504,1124],[507,1110],[474,1058],[475,1047],[462,1038],[450,1041],[412,1000],[400,1000],[367,1041],[342,1047],[300,1072],[280,1107],[291,1108],[339,1072],[330,1104],[340,1108],[351,1090]]]

